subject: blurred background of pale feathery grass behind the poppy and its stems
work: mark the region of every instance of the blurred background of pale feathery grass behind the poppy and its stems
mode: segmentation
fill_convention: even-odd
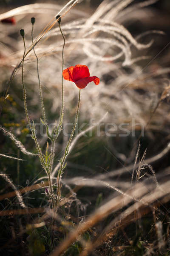
[[[71,186],[81,186],[73,178],[95,178],[101,174],[104,175],[103,180],[115,182],[119,189],[124,191],[129,188],[139,141],[139,160],[144,156],[144,160],[152,164],[159,182],[166,180],[169,175],[170,1],[134,0],[121,7],[122,2],[80,1],[62,18],[61,27],[66,40],[64,67],[85,64],[91,76],[101,79],[98,86],[91,83],[82,90],[77,134],[92,123],[97,123],[108,112],[102,124],[82,136],[71,151],[63,175],[65,182]],[[14,17],[16,22],[0,22],[1,103],[8,88],[8,79],[23,55],[20,29],[25,30],[28,49],[31,46],[31,17],[36,19],[36,39],[66,3],[0,0],[0,20]],[[25,8],[24,5],[28,4],[30,6]],[[8,13],[10,10],[13,11]],[[62,45],[59,27],[55,24],[35,47],[49,124],[58,120],[61,107]],[[25,60],[24,79],[28,111],[37,124],[37,136],[45,149],[47,137],[40,130],[40,98],[33,51]],[[54,166],[57,166],[68,140],[71,131],[68,124],[74,122],[78,101],[75,84],[68,81],[64,81],[64,84],[65,133],[62,132],[58,138]],[[24,114],[20,68],[11,81],[8,94],[2,104],[0,125],[14,133],[28,150],[35,152]],[[0,153],[25,160],[19,163],[0,158],[0,170],[9,174],[18,187],[32,185],[44,176],[39,160],[20,153],[2,131]],[[118,175],[108,175],[122,168],[125,171],[123,169]],[[145,168],[142,174],[145,172],[147,177],[152,176],[149,168]],[[10,191],[5,181],[1,186],[1,191]],[[79,215],[91,212],[99,195],[105,200],[110,190],[101,188],[99,183],[84,184],[77,195],[84,206],[80,207]],[[30,198],[28,194],[24,197],[30,207],[46,204],[41,191],[33,192]],[[8,207],[10,209],[11,205]],[[74,209],[71,211],[74,214]]]

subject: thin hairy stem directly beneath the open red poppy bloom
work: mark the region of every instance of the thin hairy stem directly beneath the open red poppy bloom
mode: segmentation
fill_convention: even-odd
[[[80,105],[80,93],[81,93],[81,89],[79,89],[79,101],[78,101],[78,105],[77,105],[77,112],[76,112],[76,117],[75,117],[75,121],[74,121],[74,126],[73,126],[73,129],[71,131],[71,136],[68,140],[68,143],[65,147],[65,153],[63,155],[63,157],[61,158],[61,167],[59,169],[59,172],[58,172],[58,186],[57,186],[57,196],[59,196],[59,191],[60,191],[60,179],[61,179],[61,175],[62,175],[62,169],[63,169],[63,165],[65,163],[65,157],[66,155],[68,154],[68,148],[69,148],[69,145],[71,143],[71,140],[74,136],[74,132],[75,132],[75,129],[76,129],[76,125],[77,125],[77,121],[78,121],[78,116],[79,116],[79,105]]]

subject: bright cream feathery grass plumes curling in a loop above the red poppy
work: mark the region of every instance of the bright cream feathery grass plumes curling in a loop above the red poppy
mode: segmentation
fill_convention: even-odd
[[[83,20],[81,20],[81,23],[82,23],[82,21]],[[77,29],[79,29],[79,31],[81,32],[83,29],[87,28],[85,20],[84,20],[84,24],[79,25],[77,23],[72,22],[71,24],[62,26],[62,29],[63,29],[64,32],[65,32],[65,29],[66,29],[67,34],[69,34],[68,29],[70,29],[70,34],[74,33],[74,35],[75,35],[75,34],[77,34],[76,33]],[[113,60],[116,60],[116,59],[120,58],[123,54],[125,54],[125,61],[124,61],[123,65],[130,65],[130,63],[131,63],[130,62],[131,50],[130,50],[130,45],[127,43],[127,40],[130,41],[130,43],[132,45],[134,45],[137,49],[148,48],[153,43],[152,41],[149,44],[146,44],[146,45],[137,43],[137,41],[132,37],[130,32],[128,32],[127,29],[125,29],[122,25],[119,25],[116,22],[111,22],[111,21],[107,21],[107,20],[100,20],[98,23],[99,24],[95,24],[95,25],[92,24],[88,28],[88,30],[90,30],[90,31],[86,32],[84,35],[82,35],[82,38],[85,38],[86,36],[88,36],[90,34],[93,34],[94,32],[101,32],[101,31],[105,32],[105,33],[108,33],[110,35],[113,35],[119,41],[117,41],[116,39],[113,40],[112,38],[107,39],[105,41],[105,38],[103,38],[103,42],[110,44],[110,46],[112,44],[113,45],[115,44],[118,48],[120,48],[122,50],[122,52],[120,52],[118,55],[116,55],[116,57],[115,56],[109,57],[109,58],[102,57],[102,56],[99,55],[99,52],[101,52],[101,51],[98,51],[97,55],[96,55],[90,50],[91,47],[92,47],[92,44],[87,44],[86,42],[87,41],[92,41],[92,42],[95,42],[95,43],[102,42],[102,38],[99,38],[99,37],[97,37],[95,39],[85,38],[85,39],[83,39],[83,41],[80,41],[79,39],[75,38],[75,40],[72,40],[72,41],[68,40],[67,44],[74,43],[74,41],[75,42],[80,42],[81,44],[83,44],[83,50],[84,50],[85,54],[87,54],[89,57],[93,57],[93,58],[96,58],[96,59],[102,60],[102,61],[113,61]],[[103,23],[108,23],[108,24],[103,26]],[[51,37],[51,36],[57,35],[57,34],[58,34],[57,29],[53,29],[53,30],[51,30],[50,34],[49,35],[47,34],[46,36]]]

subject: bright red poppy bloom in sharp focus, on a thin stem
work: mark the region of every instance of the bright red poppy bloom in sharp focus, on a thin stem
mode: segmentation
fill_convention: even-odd
[[[88,83],[94,81],[97,85],[100,79],[96,76],[90,76],[88,67],[85,65],[76,65],[75,67],[68,67],[62,72],[65,80],[74,82],[79,89],[85,88]]]

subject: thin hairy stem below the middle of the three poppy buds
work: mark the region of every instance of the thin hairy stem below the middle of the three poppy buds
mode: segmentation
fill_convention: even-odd
[[[33,31],[34,31],[34,24],[32,24],[32,30],[31,30],[32,45],[34,45]],[[38,57],[37,57],[37,54],[35,52],[34,47],[33,47],[33,51],[34,51],[35,57],[37,58],[37,76],[38,76],[38,84],[39,84],[39,92],[40,92],[42,117],[43,117],[43,121],[45,122],[45,124],[47,124],[47,120],[46,120],[46,116],[45,116],[45,108],[44,108],[44,99],[43,99],[43,96],[42,96],[42,87],[41,87],[41,83],[40,83],[40,74],[39,74],[39,67],[38,67],[38,64],[39,64],[38,63]]]

